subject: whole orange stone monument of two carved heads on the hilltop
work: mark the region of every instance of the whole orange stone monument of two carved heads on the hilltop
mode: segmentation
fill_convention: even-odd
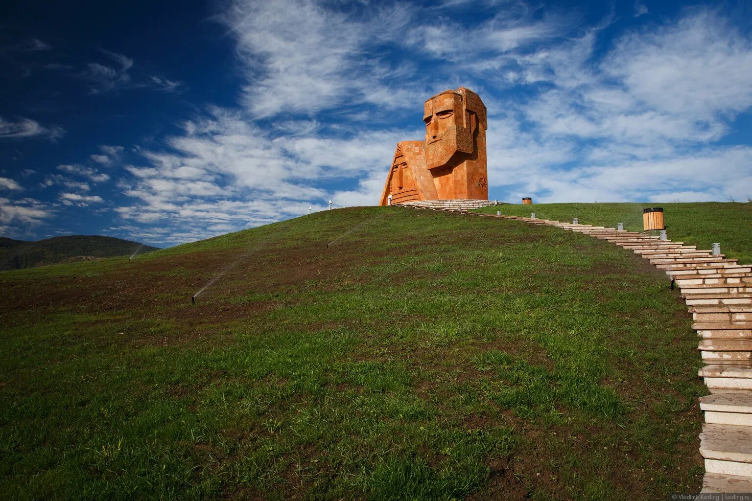
[[[488,200],[486,105],[459,87],[426,101],[426,140],[397,143],[379,204]]]

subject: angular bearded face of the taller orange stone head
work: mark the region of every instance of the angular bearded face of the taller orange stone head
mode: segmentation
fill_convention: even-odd
[[[462,95],[439,94],[426,101],[426,168],[446,165],[456,152],[472,153],[472,131],[465,127]]]

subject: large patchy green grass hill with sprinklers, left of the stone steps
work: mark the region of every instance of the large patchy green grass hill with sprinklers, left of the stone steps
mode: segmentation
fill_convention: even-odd
[[[690,315],[603,240],[350,208],[0,286],[0,497],[699,489]]]

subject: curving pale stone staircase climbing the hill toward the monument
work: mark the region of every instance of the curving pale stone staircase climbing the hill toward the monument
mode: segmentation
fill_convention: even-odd
[[[630,249],[665,270],[693,315],[693,329],[700,337],[698,349],[706,364],[699,376],[711,391],[700,398],[700,409],[705,412],[700,434],[700,454],[705,458],[702,492],[752,492],[752,265],[636,231],[467,214],[518,219],[587,234]]]

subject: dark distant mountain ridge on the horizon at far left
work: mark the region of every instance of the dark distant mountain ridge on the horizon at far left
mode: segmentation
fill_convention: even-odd
[[[71,235],[36,242],[0,237],[0,270],[20,270],[66,261],[113,258],[118,255],[131,255],[136,249],[138,254],[143,254],[159,248],[100,235]]]

